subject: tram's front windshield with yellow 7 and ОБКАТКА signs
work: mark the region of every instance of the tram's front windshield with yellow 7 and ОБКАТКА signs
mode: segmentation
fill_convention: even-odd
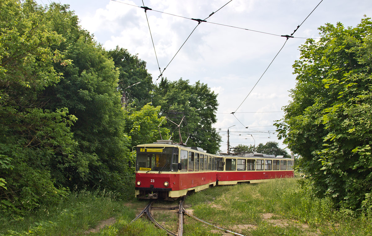
[[[176,147],[137,147],[136,170],[177,172],[177,166]]]

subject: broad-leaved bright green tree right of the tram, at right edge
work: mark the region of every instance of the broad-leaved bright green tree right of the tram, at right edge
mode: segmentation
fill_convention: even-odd
[[[300,47],[293,100],[276,125],[317,194],[359,209],[372,191],[372,22],[319,29]]]

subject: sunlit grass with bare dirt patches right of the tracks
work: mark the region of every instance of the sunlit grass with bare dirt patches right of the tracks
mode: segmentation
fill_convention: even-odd
[[[219,186],[189,196],[186,204],[197,217],[231,231],[255,226],[238,229],[243,235],[372,235],[371,216],[351,217],[309,188],[295,179]]]

